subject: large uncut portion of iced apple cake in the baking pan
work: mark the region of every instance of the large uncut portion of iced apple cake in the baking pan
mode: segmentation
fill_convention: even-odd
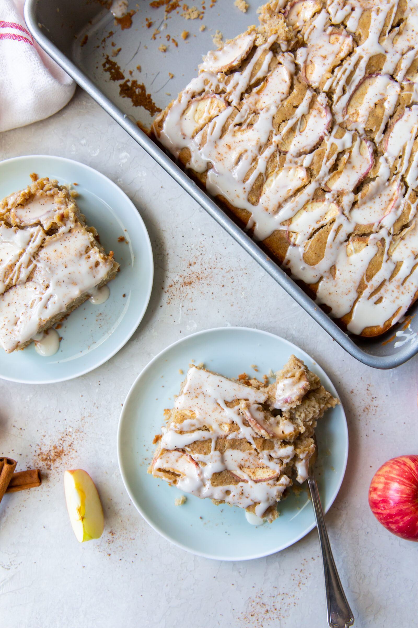
[[[349,332],[418,296],[417,0],[274,0],[157,140]]]

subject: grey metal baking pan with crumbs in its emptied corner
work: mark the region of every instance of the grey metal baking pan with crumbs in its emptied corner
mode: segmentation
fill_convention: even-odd
[[[193,1],[193,0],[192,0]],[[251,0],[250,0],[251,1]],[[265,254],[219,204],[203,192],[177,163],[152,141],[135,121],[150,126],[197,72],[197,64],[213,48],[219,29],[225,39],[258,23],[256,4],[241,13],[232,0],[199,0],[197,19],[182,13],[184,0],[130,0],[132,24],[120,24],[105,0],[27,0],[26,24],[39,45],[83,87],[209,214],[310,313],[350,355],[377,369],[392,369],[418,352],[418,303],[384,335],[361,338],[343,332],[292,279]],[[194,0],[197,4],[197,0]],[[158,4],[158,1],[157,1]],[[176,6],[177,4],[177,6]],[[150,21],[152,24],[149,26]],[[122,28],[125,26],[125,28]],[[204,26],[204,30],[201,27]],[[155,33],[157,30],[159,32]],[[183,31],[189,31],[185,39]],[[153,37],[154,35],[154,37]],[[167,46],[167,50],[160,46]],[[120,50],[118,50],[120,49]],[[103,66],[105,63],[105,66]],[[116,65],[115,65],[116,64]],[[140,69],[138,69],[138,66]],[[113,79],[111,78],[111,70]],[[117,70],[117,71],[116,71]],[[123,78],[121,77],[121,74]],[[173,75],[172,77],[170,75]],[[142,105],[145,104],[144,108]]]

